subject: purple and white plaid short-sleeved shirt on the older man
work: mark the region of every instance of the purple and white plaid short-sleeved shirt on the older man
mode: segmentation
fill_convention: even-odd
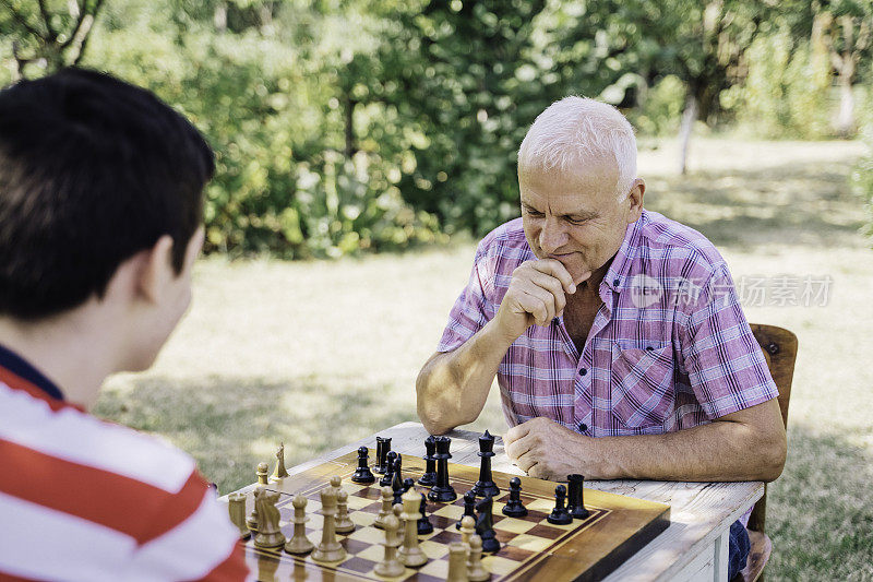
[[[491,320],[513,270],[533,259],[521,218],[486,236],[438,351]],[[654,435],[778,395],[725,260],[696,230],[644,211],[598,290],[582,354],[563,318],[531,325],[506,352],[498,383],[510,426],[545,416],[593,437]]]

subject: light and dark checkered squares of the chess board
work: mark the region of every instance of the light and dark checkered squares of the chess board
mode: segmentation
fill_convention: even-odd
[[[373,485],[358,485],[350,480],[352,468],[349,465],[337,463],[335,474],[343,477],[343,489],[348,492],[349,518],[356,524],[355,532],[343,535],[337,534],[337,539],[346,548],[347,558],[336,565],[315,562],[311,555],[291,556],[282,550],[267,550],[255,548],[251,541],[247,543],[247,551],[254,553],[259,562],[259,579],[268,580],[274,574],[277,579],[287,580],[287,568],[294,570],[291,579],[302,579],[309,570],[330,571],[335,580],[383,580],[373,573],[375,565],[384,557],[385,533],[373,525],[375,516],[382,507],[381,490],[378,482]],[[420,471],[405,470],[404,477],[418,479]],[[406,568],[396,581],[444,581],[449,573],[449,544],[459,542],[461,533],[455,524],[464,513],[463,495],[473,488],[474,482],[455,478],[450,475],[450,480],[458,499],[451,504],[428,502],[428,514],[433,524],[433,533],[419,536],[421,549],[430,560],[420,568]],[[303,489],[299,492],[307,497],[307,536],[312,543],[321,541],[323,518],[321,514],[320,491],[327,487],[325,483]],[[272,487],[267,487],[271,489]],[[417,487],[417,490],[427,492],[427,489]],[[294,525],[289,522],[294,514],[291,506],[294,496],[283,492],[276,503],[282,514],[282,531],[290,537]],[[509,491],[501,490],[500,497],[494,499],[493,523],[501,549],[495,555],[483,555],[482,565],[491,572],[491,580],[512,580],[523,574],[539,560],[546,559],[550,551],[563,545],[576,532],[590,527],[606,518],[611,510],[591,507],[586,503],[590,515],[586,520],[574,520],[572,524],[553,525],[547,516],[554,507],[554,499],[541,495],[522,491],[522,501],[528,510],[525,518],[507,518],[502,509],[509,500]],[[326,573],[326,572],[325,572]]]

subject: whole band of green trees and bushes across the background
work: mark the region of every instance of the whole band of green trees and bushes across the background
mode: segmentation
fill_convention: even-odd
[[[866,14],[854,0],[817,13],[801,0],[44,5],[0,0],[14,9],[0,9],[0,83],[83,59],[153,90],[216,151],[206,250],[284,258],[404,249],[517,216],[517,147],[567,94],[615,105],[643,135],[675,132],[687,95],[707,123],[827,135],[846,48],[835,23]],[[63,48],[83,5],[91,35]],[[869,80],[870,49],[856,49]]]

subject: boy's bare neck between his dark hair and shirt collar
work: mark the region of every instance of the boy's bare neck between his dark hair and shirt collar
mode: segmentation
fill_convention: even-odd
[[[96,328],[75,316],[36,323],[0,317],[0,344],[51,380],[67,402],[91,409],[115,371],[112,346]]]

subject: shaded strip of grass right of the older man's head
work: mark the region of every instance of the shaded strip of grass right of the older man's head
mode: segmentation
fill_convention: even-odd
[[[792,163],[765,169],[698,171],[649,180],[646,206],[715,245],[839,247],[857,244],[862,202],[847,185],[850,162]]]

